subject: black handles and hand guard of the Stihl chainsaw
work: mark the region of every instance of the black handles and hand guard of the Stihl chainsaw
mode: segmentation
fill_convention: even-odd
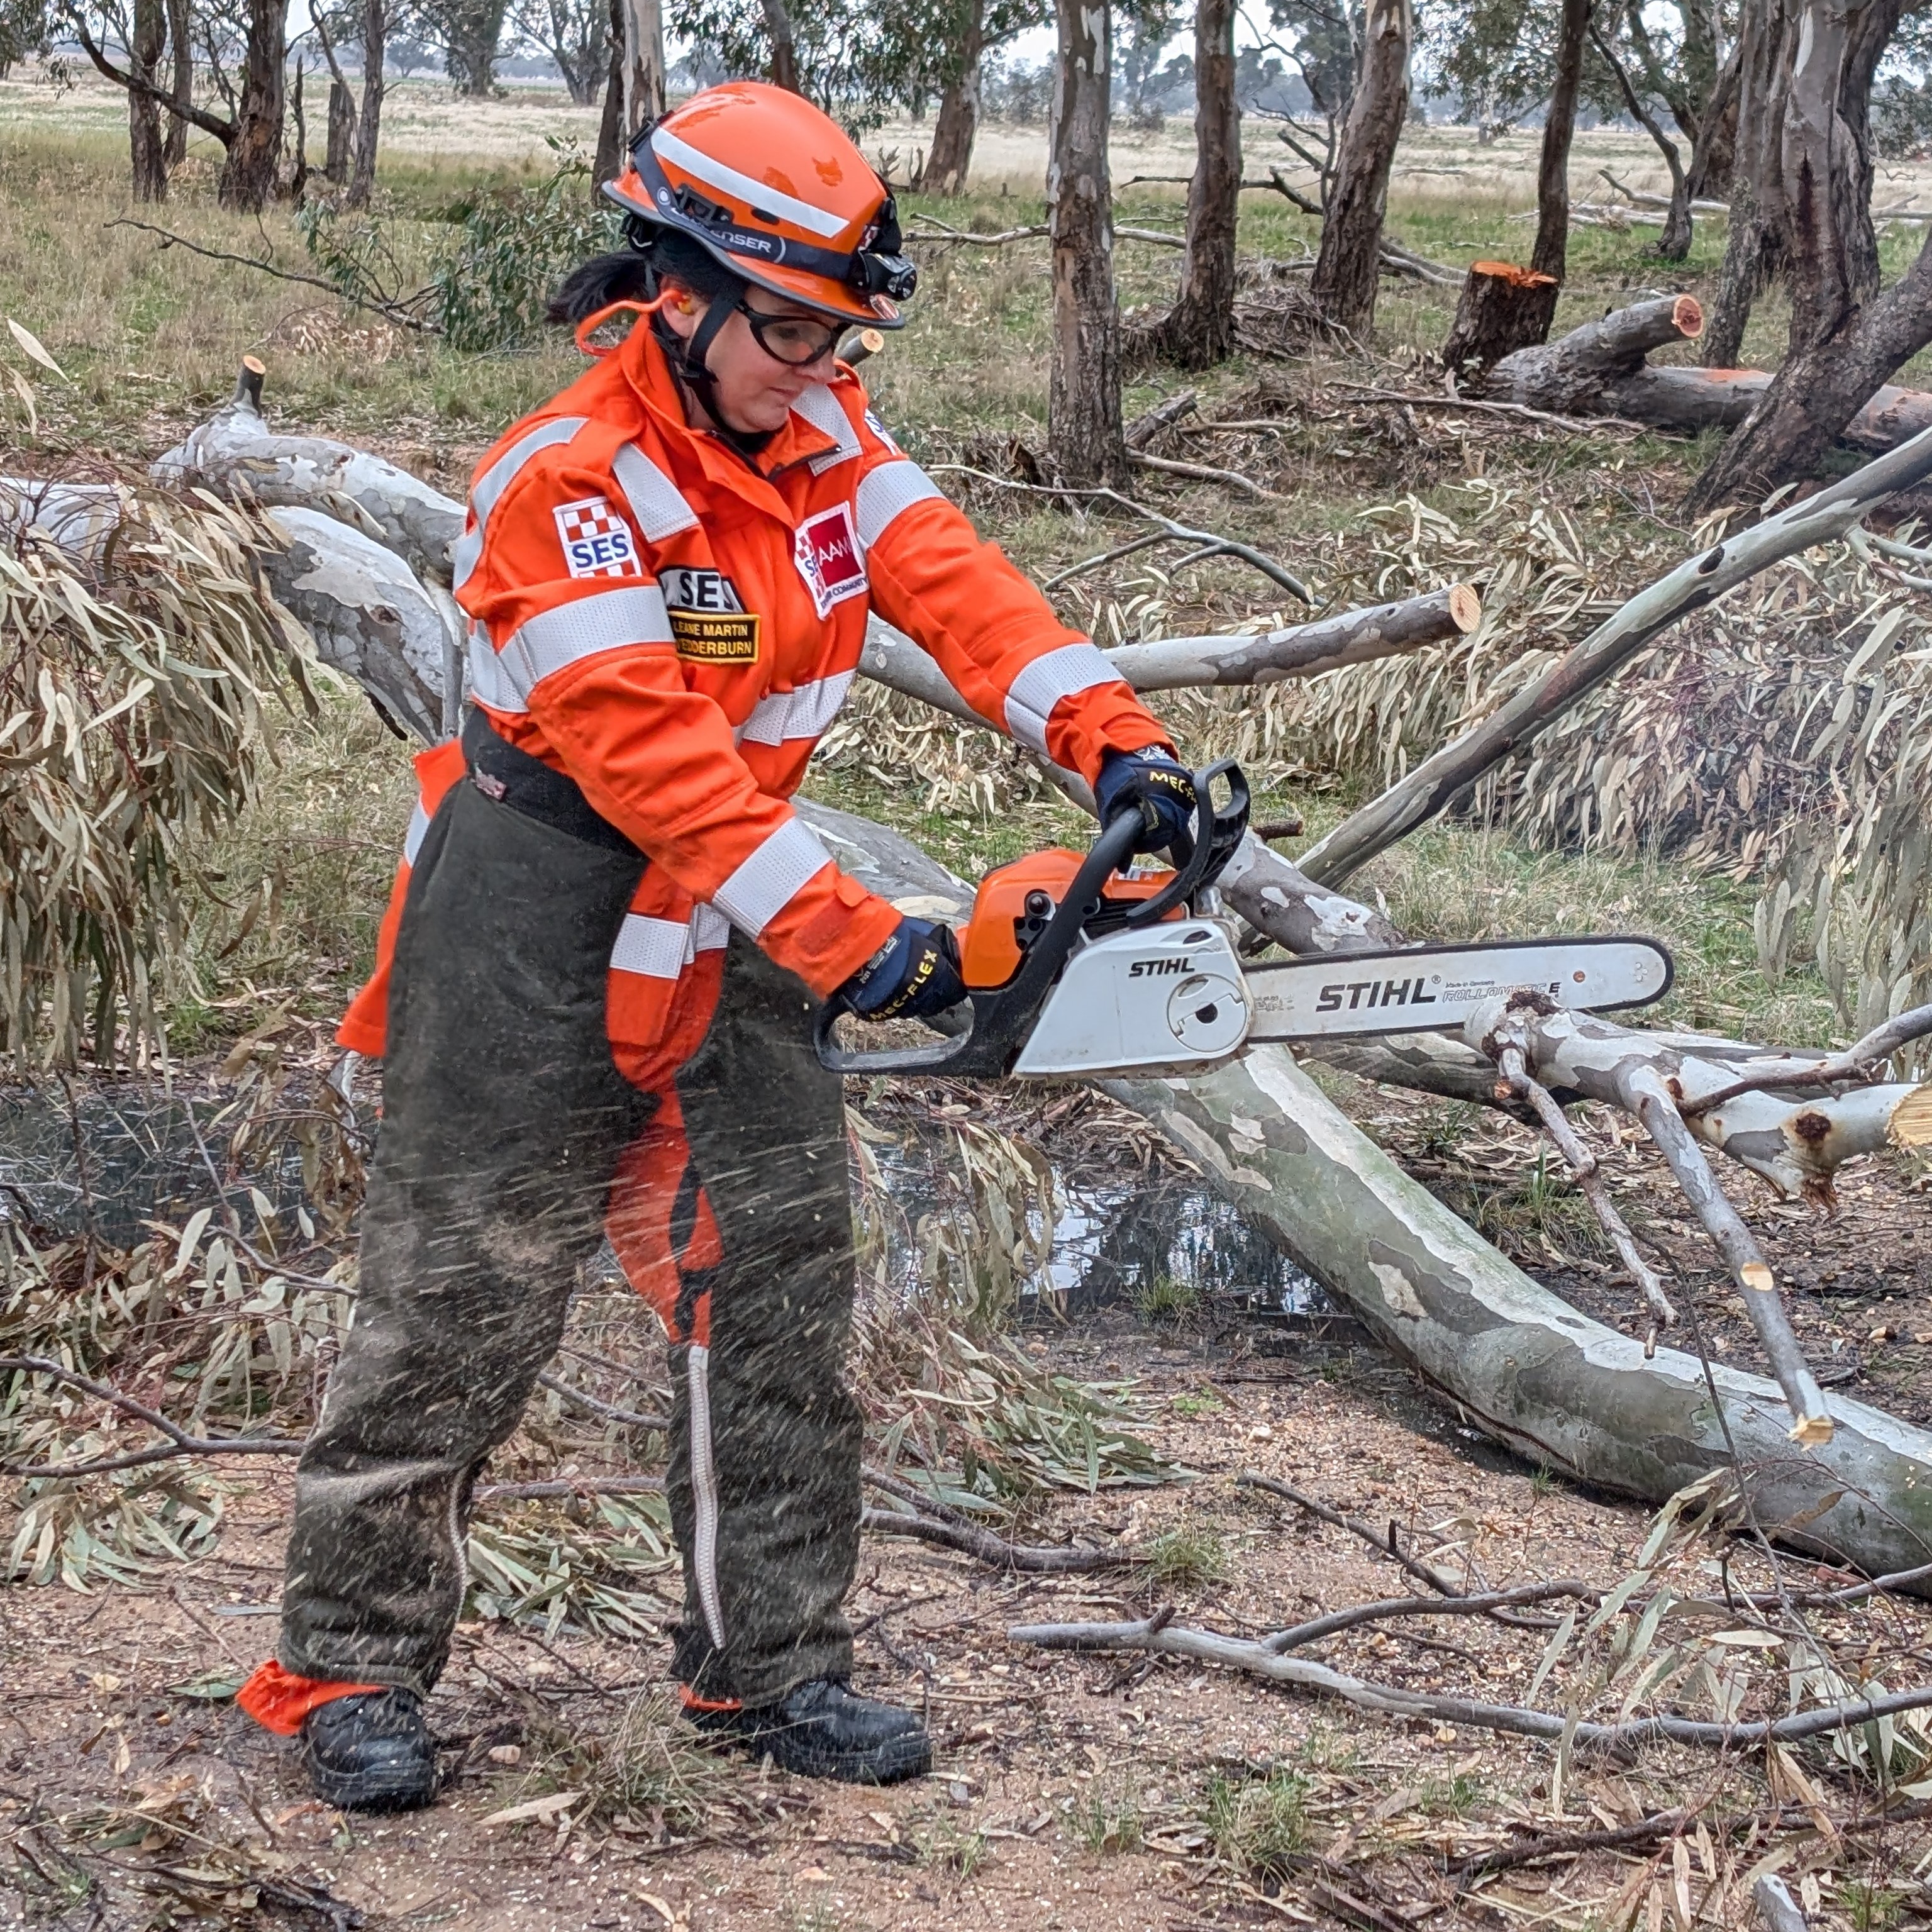
[[[1229,782],[1229,802],[1215,810],[1211,784],[1221,777]],[[1182,898],[1192,898],[1213,885],[1235,856],[1235,848],[1248,829],[1248,781],[1240,775],[1240,765],[1225,757],[1206,771],[1198,771],[1194,794],[1202,823],[1186,866],[1179,867],[1159,893],[1140,900],[1124,914],[1121,925],[1148,925],[1159,920]],[[854,1007],[842,993],[833,993],[811,1022],[811,1043],[817,1047],[821,1065],[835,1074],[927,1072],[966,1080],[1005,1078],[1018,1059],[1020,1047],[1026,1045],[1034,1020],[1061,976],[1061,966],[1066,964],[1082,931],[1099,916],[1107,881],[1134,856],[1134,846],[1144,831],[1138,806],[1115,813],[1101,827],[1088,856],[1080,862],[1066,896],[1053,908],[1045,931],[1028,947],[1020,970],[1005,985],[968,987],[966,1003],[972,1007],[972,1026],[958,1037],[935,1039],[920,1047],[879,1047],[873,1051],[840,1047],[833,1028],[838,1024],[838,1016],[852,1012]],[[956,1007],[952,1010],[958,1012]]]

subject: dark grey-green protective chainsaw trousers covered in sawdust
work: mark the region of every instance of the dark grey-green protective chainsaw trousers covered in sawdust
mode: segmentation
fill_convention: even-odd
[[[616,1163],[663,1105],[618,1074],[605,1037],[605,974],[639,867],[471,782],[423,838],[396,937],[355,1320],[296,1472],[290,1671],[423,1694],[442,1671],[471,1490],[556,1350]],[[852,1221],[840,1086],[811,1051],[810,1014],[804,983],[734,937],[717,1018],[676,1076],[682,1184],[709,1198],[723,1260],[686,1281],[688,1298],[711,1298],[705,1374],[672,1350],[674,1669],[701,1696],[750,1704],[852,1662]],[[715,1546],[709,1617],[699,1528]]]

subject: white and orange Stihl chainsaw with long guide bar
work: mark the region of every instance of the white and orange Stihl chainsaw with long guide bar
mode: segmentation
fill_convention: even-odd
[[[1173,871],[1121,869],[1142,829],[1130,810],[1086,854],[1034,852],[980,881],[960,943],[970,1024],[956,1037],[852,1051],[835,1032],[850,1009],[833,997],[817,1016],[819,1059],[833,1072],[981,1080],[1200,1072],[1264,1039],[1455,1032],[1519,989],[1590,1010],[1648,1007],[1669,991],[1675,968],[1656,939],[1242,962],[1213,885],[1248,829],[1248,784],[1225,759],[1194,786],[1198,831]]]

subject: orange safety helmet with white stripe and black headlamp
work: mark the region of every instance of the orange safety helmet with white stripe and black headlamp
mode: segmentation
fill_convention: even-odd
[[[900,253],[891,189],[802,95],[765,81],[707,87],[638,135],[605,193],[638,245],[668,228],[775,296],[902,327],[918,269]]]

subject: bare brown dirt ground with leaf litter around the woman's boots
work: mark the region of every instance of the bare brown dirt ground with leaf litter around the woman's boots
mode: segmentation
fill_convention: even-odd
[[[1922,1294],[1922,1265],[1915,1281]],[[1828,1306],[1843,1320],[1851,1304]],[[1005,1634],[1167,1605],[1184,1623],[1260,1634],[1412,1588],[1354,1536],[1236,1488],[1242,1468],[1397,1524],[1490,1586],[1609,1586],[1631,1571],[1648,1511],[1507,1463],[1397,1364],[1347,1341],[1213,1320],[1157,1331],[1115,1312],[1039,1331],[1032,1347],[1070,1374],[1132,1379],[1148,1435],[1196,1474],[1065,1499],[1028,1534],[1146,1548],[1179,1528],[1198,1555],[1165,1578],[1014,1578],[869,1536],[850,1602],[858,1683],[927,1714],[929,1779],[864,1791],[694,1760],[674,1719],[653,1704],[639,1718],[638,1700],[663,1690],[667,1642],[466,1623],[431,1704],[446,1750],[439,1806],[398,1820],[332,1812],[307,1797],[286,1745],[197,1694],[272,1646],[290,1505],[276,1472],[236,1490],[216,1555],[155,1592],[0,1598],[0,1804],[15,1845],[14,1870],[0,1870],[0,1924],[1194,1932],[1293,1920],[1621,1932],[1648,1915],[1660,1932],[1669,1913],[1690,1932],[1692,1920],[1748,1920],[1745,1880],[1774,1845],[1756,1764],[1665,1748],[1623,1764],[1578,1758],[1557,1795],[1544,1745],[1352,1714],[1182,1660],[1049,1654]],[[1812,1580],[1806,1565],[1785,1575]],[[1891,1607],[1888,1631],[1888,1656],[1917,1654],[1922,1677],[1932,1615]],[[1544,1642],[1542,1631],[1472,1617],[1345,1633],[1316,1654],[1381,1683],[1509,1702],[1526,1700]],[[686,1804],[661,1808],[657,1830],[636,1818],[626,1830],[597,1816],[576,1824],[585,1801],[568,1793],[585,1787],[583,1748],[624,1723],[636,1743],[639,1721],[649,1748],[692,1781]],[[1302,1853],[1296,1870],[1256,1882],[1227,1804],[1229,1793],[1267,1789],[1258,1779],[1271,1772],[1289,1774]],[[1797,1812],[1776,1845],[1818,1907],[1814,1922],[1889,1932],[1915,1909],[1932,1917],[1932,1893],[1913,1876],[1932,1845],[1924,1816],[1878,1826],[1855,1787],[1833,1787],[1816,1762],[1812,1776],[1837,1822],[1820,1830]],[[493,1822],[543,1795],[549,1810]],[[1716,1837],[1687,1826],[1675,1849],[1457,1874],[1526,1833],[1611,1832],[1687,1803],[1718,1806]]]

